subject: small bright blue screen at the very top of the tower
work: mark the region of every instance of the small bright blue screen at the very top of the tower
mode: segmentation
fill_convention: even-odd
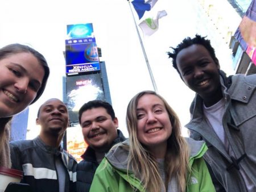
[[[68,35],[68,39],[76,39],[76,38],[93,36],[92,23],[69,24],[67,25],[67,35]]]

